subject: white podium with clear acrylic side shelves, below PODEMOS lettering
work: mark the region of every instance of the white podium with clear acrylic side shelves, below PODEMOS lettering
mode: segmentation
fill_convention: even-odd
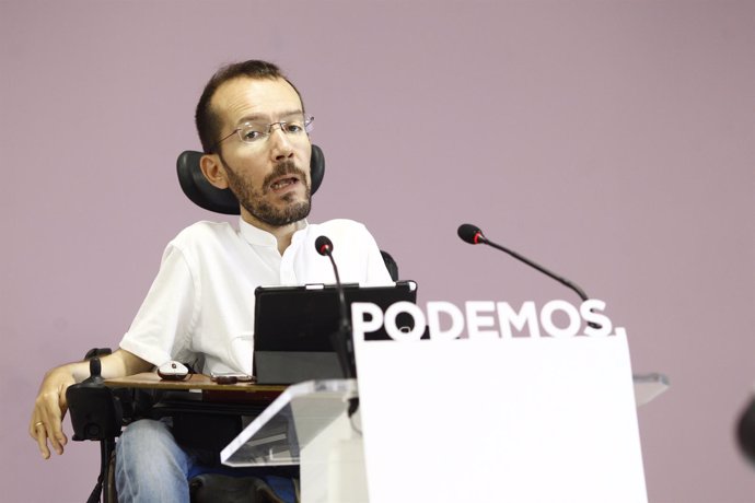
[[[289,387],[221,460],[300,464],[303,503],[647,502],[636,407],[666,383],[632,379],[626,337],[356,351],[358,386]]]

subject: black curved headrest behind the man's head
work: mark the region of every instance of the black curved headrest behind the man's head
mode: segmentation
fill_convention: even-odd
[[[219,189],[210,184],[199,167],[199,160],[205,155],[201,152],[186,150],[178,155],[176,167],[178,182],[195,204],[209,211],[223,214],[239,214],[239,200],[230,189]],[[312,178],[312,194],[317,191],[325,176],[325,156],[320,147],[312,145],[310,160],[310,176]]]

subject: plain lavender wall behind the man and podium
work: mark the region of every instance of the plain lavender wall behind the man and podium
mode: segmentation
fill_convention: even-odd
[[[216,218],[174,160],[206,79],[252,57],[317,117],[313,220],[365,222],[425,301],[572,299],[461,243],[464,221],[574,279],[673,383],[639,410],[650,500],[752,501],[747,0],[0,2],[3,501],[89,494],[95,445],[43,461],[27,436],[36,388],[117,346],[165,243]]]

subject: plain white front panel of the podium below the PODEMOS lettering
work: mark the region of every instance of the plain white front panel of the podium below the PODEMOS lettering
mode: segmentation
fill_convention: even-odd
[[[625,336],[356,352],[370,501],[647,502]]]

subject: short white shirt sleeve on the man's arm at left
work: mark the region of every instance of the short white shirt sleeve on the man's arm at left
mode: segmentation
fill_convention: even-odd
[[[190,331],[199,289],[184,254],[169,245],[152,286],[120,348],[161,365],[170,360],[193,362]]]

